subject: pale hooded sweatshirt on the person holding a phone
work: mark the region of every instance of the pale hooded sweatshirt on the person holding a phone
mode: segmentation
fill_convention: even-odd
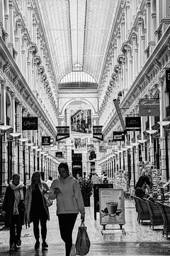
[[[55,188],[59,188],[61,193],[57,196]],[[67,178],[56,178],[52,181],[50,199],[57,201],[57,215],[63,213],[81,213],[84,216],[84,201],[81,195],[79,183],[73,176]]]

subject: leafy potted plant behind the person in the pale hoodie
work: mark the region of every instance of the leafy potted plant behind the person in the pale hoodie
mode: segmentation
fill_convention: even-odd
[[[81,188],[81,193],[84,199],[84,206],[90,206],[90,197],[93,192],[93,185],[91,180],[82,178],[81,181],[79,181],[79,186]]]

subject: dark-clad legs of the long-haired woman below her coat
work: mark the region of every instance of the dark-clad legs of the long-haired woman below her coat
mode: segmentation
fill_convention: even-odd
[[[40,238],[39,222],[41,225],[42,242],[45,241],[47,235],[47,217],[46,215],[33,216],[33,233],[36,240]]]

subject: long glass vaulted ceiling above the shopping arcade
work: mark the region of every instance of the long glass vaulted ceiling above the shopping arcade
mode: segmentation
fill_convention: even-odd
[[[118,0],[38,0],[58,82],[74,70],[100,80]]]

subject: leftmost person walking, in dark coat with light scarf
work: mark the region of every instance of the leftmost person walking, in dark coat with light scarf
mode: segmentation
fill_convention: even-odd
[[[6,187],[1,214],[5,217],[4,225],[9,228],[10,250],[16,250],[16,245],[21,246],[21,231],[24,225],[26,186],[20,181],[18,174],[13,174],[12,180]]]

